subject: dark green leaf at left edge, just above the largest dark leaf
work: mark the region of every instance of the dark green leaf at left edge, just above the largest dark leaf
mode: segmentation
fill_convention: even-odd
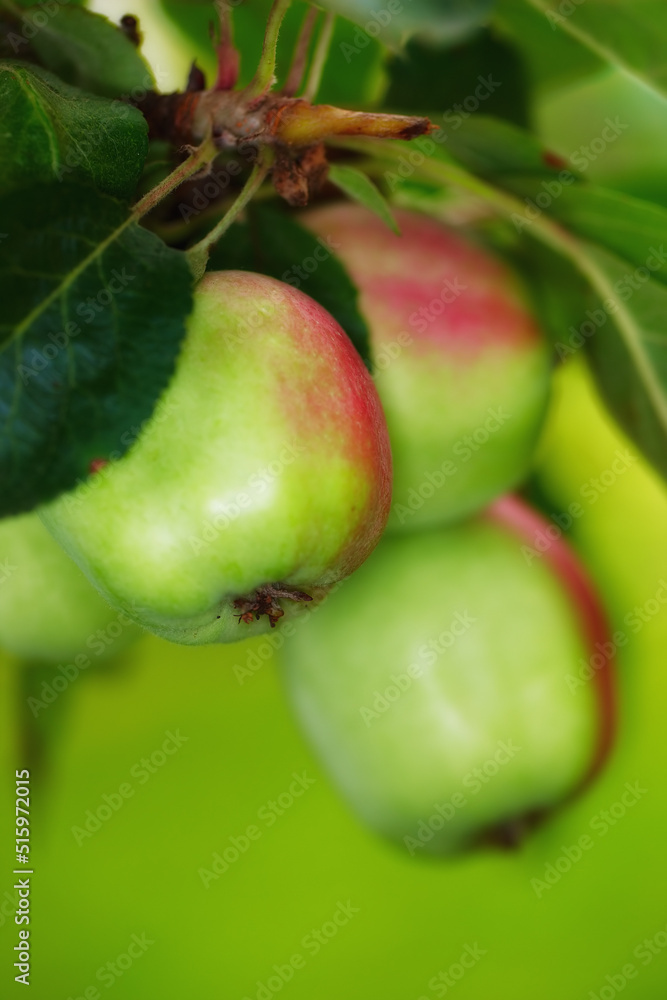
[[[0,105],[0,192],[80,179],[119,198],[133,195],[148,150],[136,108],[11,62],[0,63]]]

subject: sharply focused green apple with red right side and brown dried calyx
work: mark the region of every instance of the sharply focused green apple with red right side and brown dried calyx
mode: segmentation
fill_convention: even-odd
[[[375,547],[390,497],[382,407],[333,317],[273,278],[219,271],[136,443],[42,518],[114,605],[202,644],[271,627],[234,605],[257,588],[321,600]],[[312,607],[280,605],[282,622]]]

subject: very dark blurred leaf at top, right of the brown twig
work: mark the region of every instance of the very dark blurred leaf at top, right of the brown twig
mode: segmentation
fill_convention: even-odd
[[[482,28],[461,44],[434,48],[411,41],[388,66],[384,106],[392,111],[446,109],[506,118],[527,125],[528,86],[523,56],[497,31]]]

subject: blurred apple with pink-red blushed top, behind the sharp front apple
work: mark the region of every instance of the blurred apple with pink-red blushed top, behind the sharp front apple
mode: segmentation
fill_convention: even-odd
[[[517,277],[415,212],[396,213],[401,236],[358,205],[301,218],[359,288],[394,456],[390,530],[455,520],[522,482],[546,412],[550,349]]]

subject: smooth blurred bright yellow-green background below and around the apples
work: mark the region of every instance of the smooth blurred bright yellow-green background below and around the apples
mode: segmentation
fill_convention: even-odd
[[[127,5],[92,6],[118,17]],[[179,48],[173,22],[157,17],[157,5],[129,6],[157,39],[149,56],[164,67],[163,89],[182,85],[191,53]],[[664,102],[595,67],[582,81],[539,79],[528,50],[545,143],[568,155],[607,115],[625,115],[631,129],[590,176],[664,202]],[[355,73],[362,65],[371,93],[377,51]],[[340,86],[353,83],[346,76]],[[627,631],[626,616],[667,579],[667,493],[638,461],[595,503],[581,494],[626,446],[582,366],[561,370],[537,481],[547,513],[583,502],[572,541],[613,626]],[[440,863],[402,856],[350,815],[288,713],[275,663],[259,659],[261,646],[188,649],[145,638],[121,661],[82,674],[43,713],[55,732],[48,770],[32,788],[34,1000],[93,1000],[109,989],[118,1000],[430,1000],[454,989],[459,1000],[610,1000],[626,987],[635,1000],[667,995],[664,609],[620,651],[620,730],[597,783],[521,849]],[[9,658],[0,660],[0,690],[0,965],[2,995],[13,996],[21,989],[10,973],[13,772],[24,762]],[[183,738],[171,755],[161,749],[168,733]],[[151,757],[154,773],[141,763]],[[307,786],[297,797],[295,773]],[[591,822],[619,802],[626,782],[647,791],[596,832]],[[77,833],[104,796],[118,804],[124,784],[131,794],[107,807],[100,828]],[[594,847],[538,898],[531,879],[543,880],[545,866],[585,833]],[[218,864],[213,877],[214,855],[225,852],[228,867]],[[458,964],[464,953],[476,956],[470,968]],[[637,975],[626,984],[627,963]]]

